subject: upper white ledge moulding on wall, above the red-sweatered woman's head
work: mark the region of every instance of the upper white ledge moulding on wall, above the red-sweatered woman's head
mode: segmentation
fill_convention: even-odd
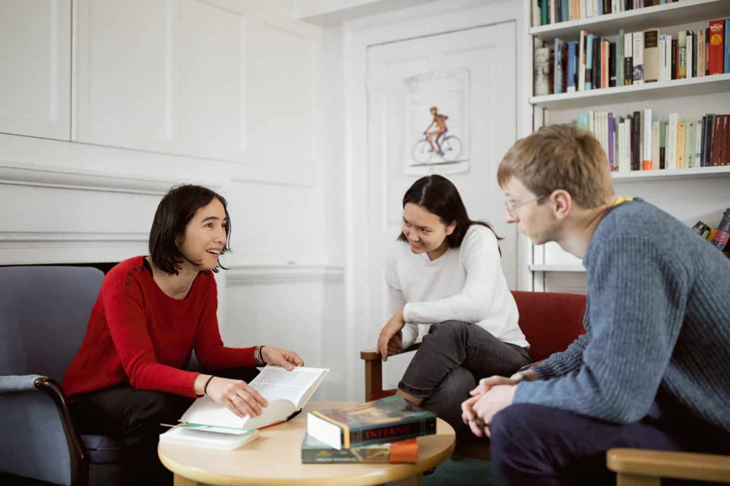
[[[220,190],[220,183],[211,181],[186,181]],[[143,176],[122,176],[112,173],[49,168],[26,164],[23,167],[9,165],[0,160],[0,184],[16,186],[53,187],[97,192],[124,192],[127,194],[165,195],[179,179],[157,179]]]

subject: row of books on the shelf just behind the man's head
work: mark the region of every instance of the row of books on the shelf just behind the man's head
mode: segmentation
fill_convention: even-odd
[[[590,111],[577,119],[604,148],[611,171],[653,171],[730,165],[730,115],[660,121],[651,109],[616,117]]]

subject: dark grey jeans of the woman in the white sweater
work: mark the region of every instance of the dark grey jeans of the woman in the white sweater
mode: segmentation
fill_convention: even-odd
[[[461,402],[481,378],[508,377],[529,362],[526,348],[500,341],[476,324],[445,321],[429,328],[398,388],[423,398],[421,407],[458,431],[464,426]]]

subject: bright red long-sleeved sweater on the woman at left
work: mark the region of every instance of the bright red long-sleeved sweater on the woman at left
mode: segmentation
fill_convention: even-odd
[[[64,375],[66,396],[118,385],[196,396],[199,373],[183,369],[193,349],[204,369],[254,366],[255,346],[223,346],[213,275],[200,273],[188,297],[172,299],[143,260],[120,262],[104,277],[81,349]]]

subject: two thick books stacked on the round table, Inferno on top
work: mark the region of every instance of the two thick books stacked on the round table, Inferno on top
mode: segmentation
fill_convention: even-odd
[[[302,463],[415,463],[415,437],[436,434],[436,415],[401,396],[314,410]]]

